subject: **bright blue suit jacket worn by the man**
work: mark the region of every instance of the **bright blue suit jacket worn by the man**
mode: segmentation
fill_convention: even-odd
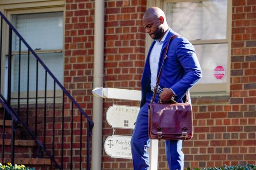
[[[159,69],[163,63],[164,52],[169,39],[177,34],[171,28],[169,32],[166,33],[166,39],[163,42],[163,47],[160,53],[159,64],[157,75],[159,74]],[[142,107],[146,102],[146,94],[151,91],[150,87],[150,67],[149,67],[149,56],[150,52],[154,46],[155,41],[152,42],[148,56],[145,62],[145,67],[141,79],[141,90],[142,99],[140,107]],[[195,85],[195,83],[202,77],[202,71],[198,59],[195,54],[195,48],[193,45],[184,37],[176,37],[169,44],[167,51],[167,58],[163,64],[163,70],[160,77],[160,87],[171,88],[176,96],[178,102],[186,94],[189,89]]]

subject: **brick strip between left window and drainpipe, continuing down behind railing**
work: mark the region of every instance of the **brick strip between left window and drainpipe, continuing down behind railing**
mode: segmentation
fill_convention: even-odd
[[[93,96],[93,28],[94,1],[66,0],[65,38],[64,38],[64,87],[70,92],[82,109],[92,117]],[[70,101],[65,100],[65,119],[70,120]],[[75,108],[75,107],[74,107]],[[86,169],[86,127],[83,119],[82,169]],[[65,124],[64,138],[64,168],[70,167],[70,129],[71,124]],[[73,169],[79,169],[79,128],[80,113],[74,111],[73,125]],[[56,152],[55,155],[59,155]],[[60,162],[61,159],[59,159]]]

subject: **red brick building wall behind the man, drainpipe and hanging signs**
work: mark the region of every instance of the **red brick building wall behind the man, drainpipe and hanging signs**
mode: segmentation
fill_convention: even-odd
[[[92,113],[92,0],[66,1],[64,86],[85,111]],[[145,33],[141,19],[146,0],[105,1],[104,87],[140,90],[145,62]],[[183,143],[185,167],[255,164],[256,160],[256,2],[233,0],[230,96],[193,97],[195,136]],[[115,101],[138,105],[137,102]],[[105,121],[103,141],[112,129]],[[132,130],[116,129],[118,135]],[[163,142],[159,169],[167,170]],[[129,159],[114,159],[102,150],[102,170],[132,169]]]

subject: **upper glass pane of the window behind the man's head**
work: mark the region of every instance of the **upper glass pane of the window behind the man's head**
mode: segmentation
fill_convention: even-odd
[[[188,40],[226,39],[227,0],[167,3],[166,20]]]

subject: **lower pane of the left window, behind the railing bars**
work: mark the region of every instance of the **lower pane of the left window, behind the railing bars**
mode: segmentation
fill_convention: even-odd
[[[49,68],[59,82],[63,82],[63,53],[44,53],[38,54],[44,64]],[[27,90],[27,71],[28,71],[28,56],[23,54],[20,57],[20,91]],[[36,59],[33,54],[29,56],[29,91],[36,90]],[[14,55],[12,60],[12,91],[18,91],[18,68],[19,56]],[[44,90],[45,86],[45,69],[38,63],[38,91]],[[60,89],[56,85],[56,89]],[[53,90],[53,79],[47,74],[47,90]]]

